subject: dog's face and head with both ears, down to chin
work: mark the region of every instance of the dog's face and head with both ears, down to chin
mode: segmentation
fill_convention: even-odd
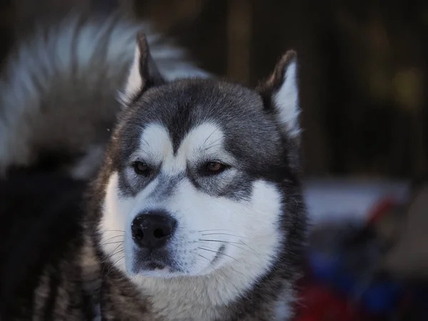
[[[117,267],[175,277],[275,258],[297,170],[295,71],[289,53],[257,90],[165,83],[140,39],[104,166],[101,244]]]

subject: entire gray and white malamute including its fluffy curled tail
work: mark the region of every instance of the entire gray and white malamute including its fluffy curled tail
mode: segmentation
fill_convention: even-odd
[[[78,202],[67,198],[73,206],[64,206],[67,215],[50,212],[49,228],[44,220],[25,225],[49,233],[16,235],[0,268],[36,263],[16,270],[17,285],[0,286],[0,318],[291,320],[306,230],[295,53],[247,88],[204,78],[150,35],[138,34],[136,46],[138,26],[114,19],[63,26],[10,63],[2,168],[27,165],[43,149],[93,157],[96,165],[83,161],[91,170],[73,164],[77,177],[102,165],[87,210],[70,213]],[[185,73],[192,77],[172,79]],[[105,153],[92,154],[110,133]],[[31,238],[55,251],[40,259]],[[21,284],[21,274],[35,283]]]

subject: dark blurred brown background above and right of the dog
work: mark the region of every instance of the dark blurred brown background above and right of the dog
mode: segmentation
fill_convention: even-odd
[[[248,85],[300,60],[305,173],[421,178],[428,160],[428,2],[7,0],[0,56],[41,16],[120,8],[151,19],[218,76]]]

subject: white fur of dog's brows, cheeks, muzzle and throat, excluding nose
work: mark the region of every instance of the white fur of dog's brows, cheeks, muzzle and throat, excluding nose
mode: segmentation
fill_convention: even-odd
[[[142,133],[141,147],[135,157],[162,164],[161,172],[167,177],[183,172],[188,163],[210,158],[235,162],[224,149],[223,132],[213,123],[201,124],[190,131],[175,156],[168,132],[163,126],[151,124]],[[237,170],[226,173],[230,179],[238,175]],[[213,183],[223,180],[212,179]],[[158,184],[160,181],[155,178],[135,197],[125,197],[120,194],[118,173],[111,175],[100,226],[103,250],[111,255],[116,267],[132,275],[131,280],[153,297],[153,308],[165,320],[219,318],[218,307],[250,289],[275,260],[282,238],[286,237],[279,227],[282,195],[272,183],[255,180],[248,198],[227,198],[211,195],[209,190],[200,190],[183,178],[171,195],[158,201],[151,198]],[[136,255],[131,222],[148,206],[162,208],[177,220],[177,228],[167,245],[175,262],[172,272],[169,269],[138,275],[130,272]],[[121,243],[108,244],[109,238],[122,240],[123,248],[117,245]],[[277,307],[278,312],[284,312],[281,307]]]

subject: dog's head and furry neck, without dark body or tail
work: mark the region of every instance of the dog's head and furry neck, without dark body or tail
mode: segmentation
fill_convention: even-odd
[[[95,243],[151,302],[142,317],[290,320],[306,223],[294,52],[255,90],[169,82],[141,35],[123,104]]]

